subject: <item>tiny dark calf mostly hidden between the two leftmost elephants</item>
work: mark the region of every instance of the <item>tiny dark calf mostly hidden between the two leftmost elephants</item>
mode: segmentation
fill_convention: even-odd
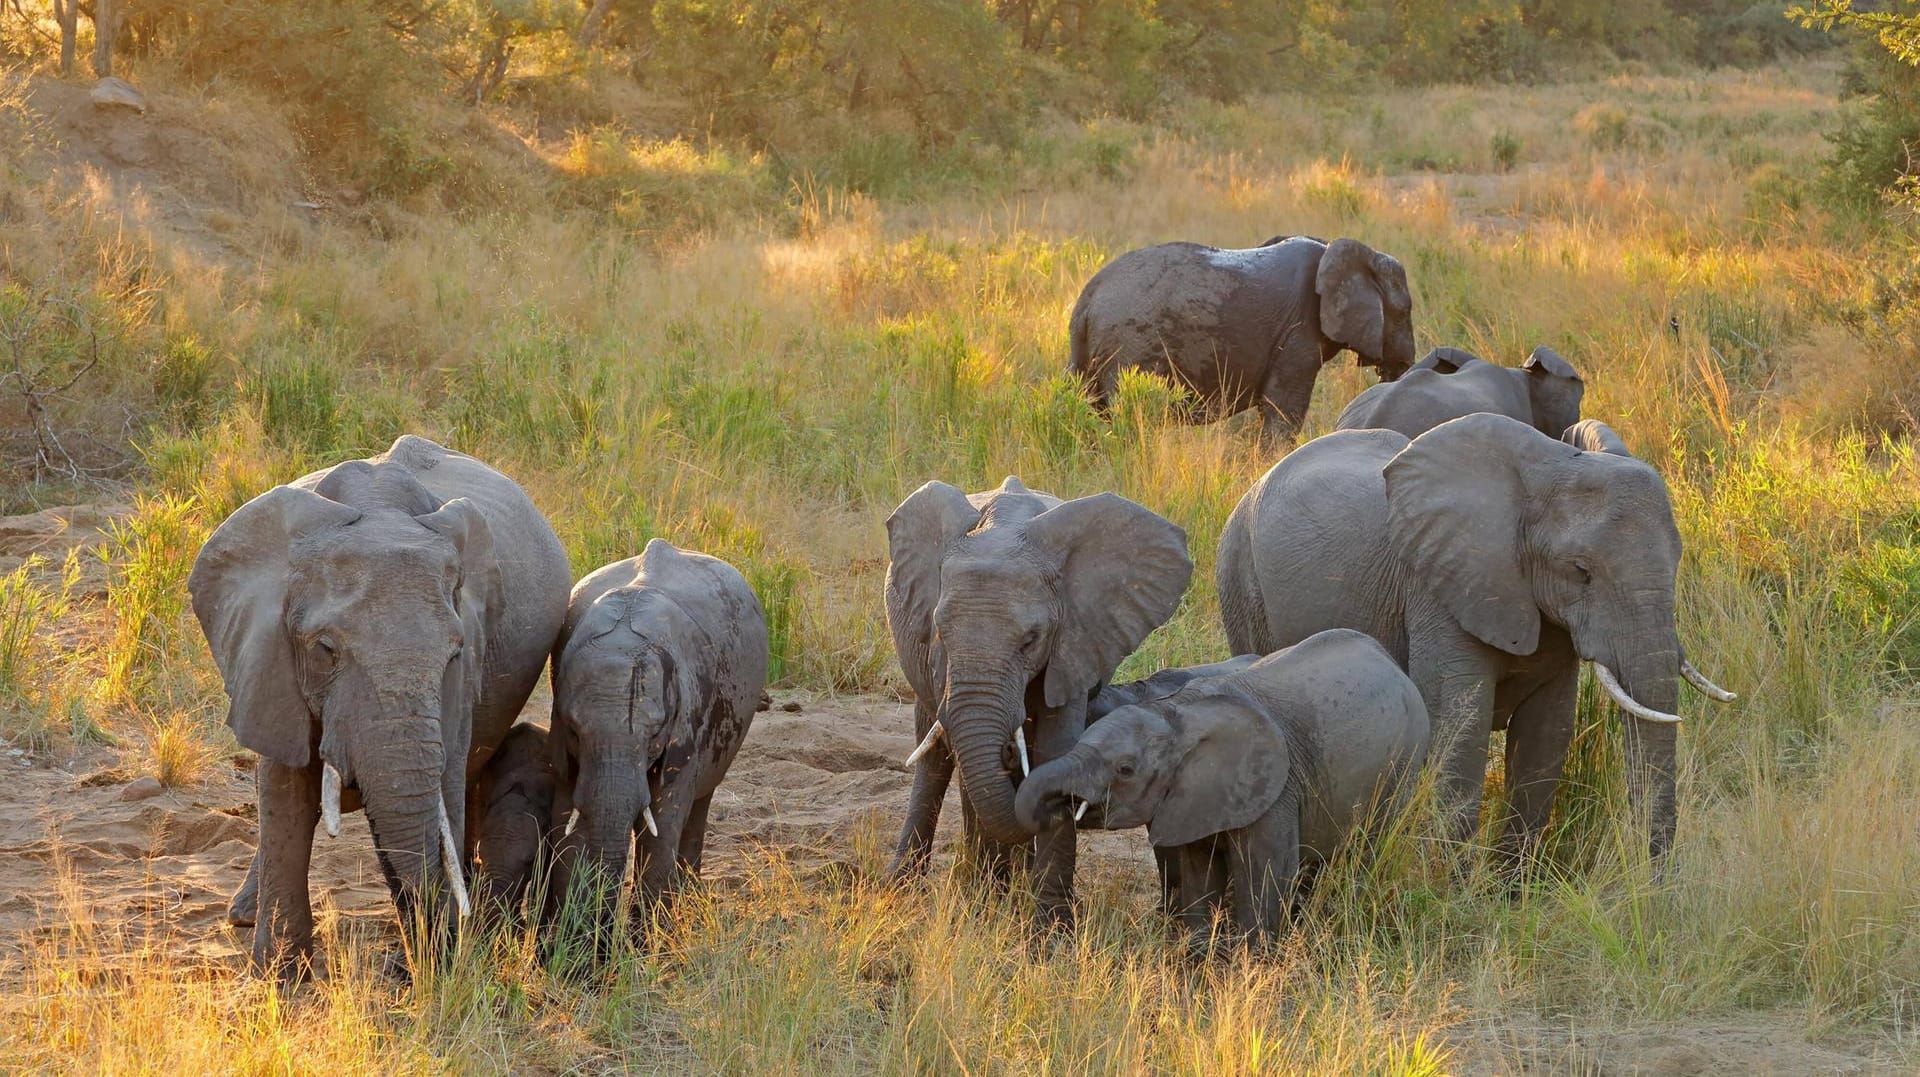
[[[474,785],[474,904],[488,918],[513,921],[536,870],[551,862],[559,778],[547,731],[518,724],[507,730]]]

